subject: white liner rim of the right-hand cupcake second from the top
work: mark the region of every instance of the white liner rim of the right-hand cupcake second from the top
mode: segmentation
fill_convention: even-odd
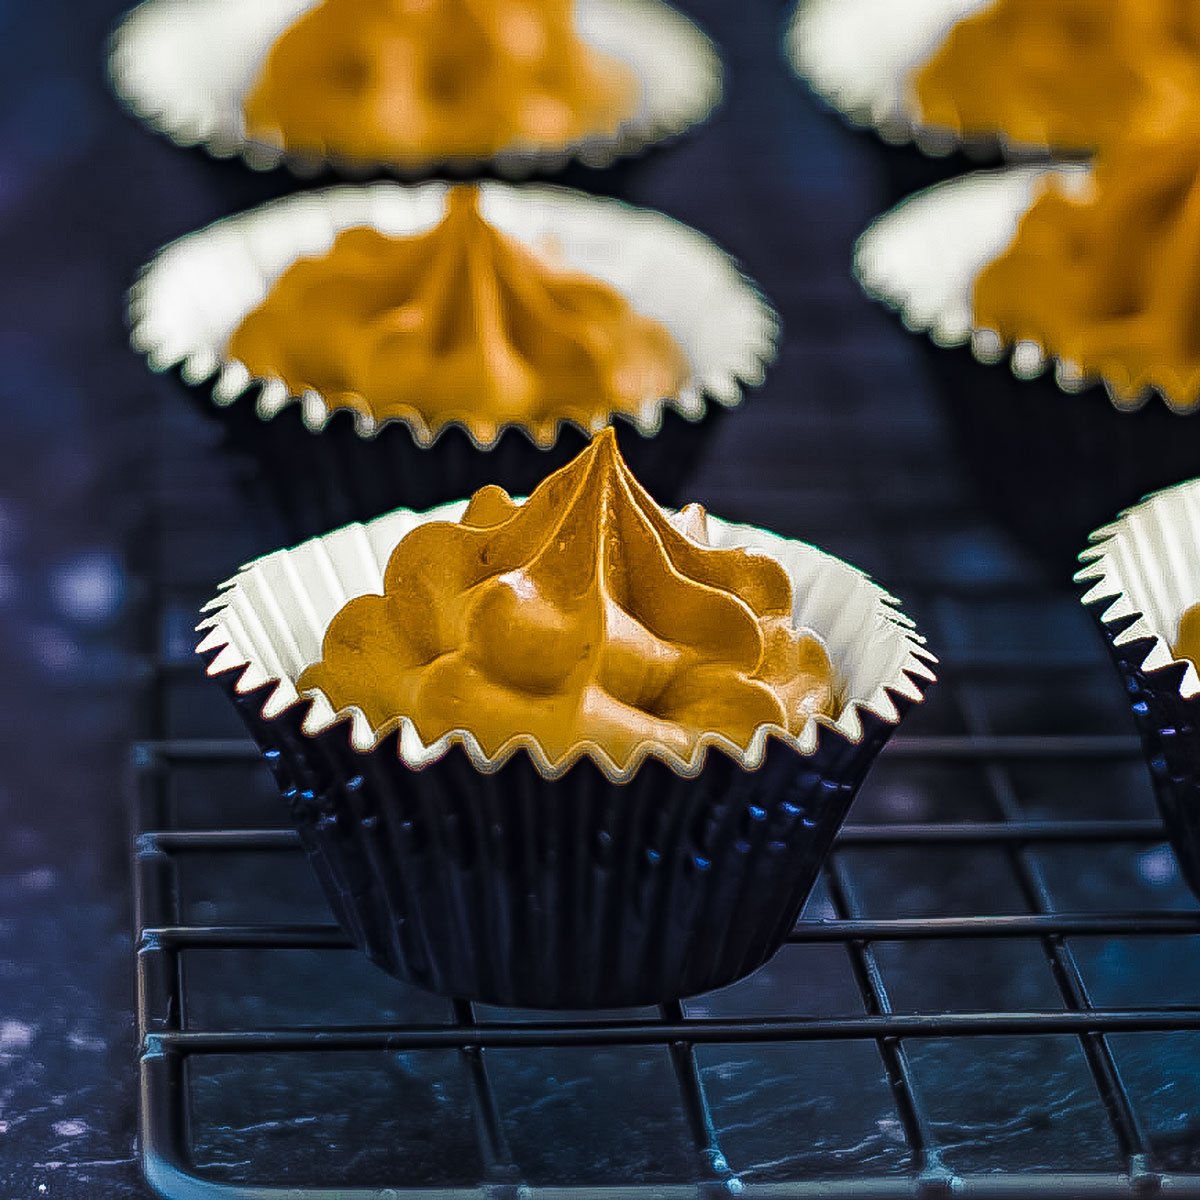
[[[973,290],[979,272],[1012,244],[1021,217],[1057,175],[1079,194],[1091,184],[1082,164],[1006,167],[979,170],[918,192],[878,217],[854,247],[854,276],[863,290],[895,312],[905,328],[928,334],[941,347],[970,344],[989,366],[1009,361],[1018,379],[1054,371],[1068,394],[1100,384],[1112,406],[1136,412],[1158,396],[1172,412],[1195,406],[1175,403],[1158,388],[1126,392],[1117,384],[1055,358],[1032,341],[1006,344],[994,329],[974,324]]]

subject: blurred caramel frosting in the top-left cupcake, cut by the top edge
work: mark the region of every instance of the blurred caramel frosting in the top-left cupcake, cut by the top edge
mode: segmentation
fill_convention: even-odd
[[[245,100],[247,136],[418,167],[613,134],[637,107],[637,78],[581,41],[572,7],[324,0],[268,54]]]

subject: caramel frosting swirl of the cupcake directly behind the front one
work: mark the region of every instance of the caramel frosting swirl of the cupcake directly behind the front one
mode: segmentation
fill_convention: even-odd
[[[324,257],[293,264],[228,353],[293,395],[311,389],[430,436],[457,421],[481,442],[515,424],[546,444],[559,421],[594,428],[690,377],[666,326],[499,233],[466,186],[427,233],[348,229]]]

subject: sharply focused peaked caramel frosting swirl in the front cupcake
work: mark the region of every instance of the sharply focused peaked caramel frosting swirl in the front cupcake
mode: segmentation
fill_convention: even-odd
[[[698,505],[668,520],[611,427],[524,504],[485,487],[458,523],[407,534],[298,685],[373,728],[408,716],[426,743],[467,730],[494,756],[526,734],[552,763],[590,743],[618,769],[647,743],[688,757],[706,733],[799,733],[834,703],[784,568],[706,545]]]

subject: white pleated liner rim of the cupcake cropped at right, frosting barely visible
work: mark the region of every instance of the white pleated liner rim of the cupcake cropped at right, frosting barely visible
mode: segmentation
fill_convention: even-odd
[[[1138,619],[1114,637],[1116,646],[1152,637],[1142,660],[1145,671],[1186,665],[1180,695],[1200,695],[1200,673],[1188,659],[1176,659],[1171,641],[1183,612],[1200,598],[1200,480],[1154,492],[1126,509],[1088,538],[1075,582],[1091,584],[1087,606],[1111,601],[1100,613],[1105,625],[1134,614]]]

